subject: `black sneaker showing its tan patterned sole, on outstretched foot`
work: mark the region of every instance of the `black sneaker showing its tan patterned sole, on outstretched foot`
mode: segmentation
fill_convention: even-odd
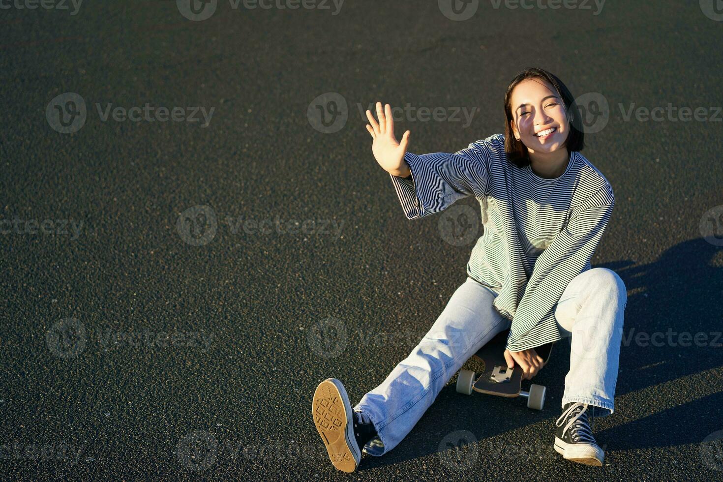
[[[331,463],[338,470],[354,472],[361,462],[361,449],[377,436],[369,416],[352,410],[343,384],[335,378],[317,387],[312,415]]]

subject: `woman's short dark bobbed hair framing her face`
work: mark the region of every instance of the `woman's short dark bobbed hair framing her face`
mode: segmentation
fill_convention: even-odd
[[[568,113],[568,119],[570,119],[570,133],[568,134],[568,138],[565,139],[565,147],[568,149],[568,154],[573,151],[581,151],[583,147],[585,147],[582,118],[578,106],[575,103],[575,98],[570,94],[568,87],[554,74],[547,72],[547,70],[530,67],[524,69],[512,79],[505,93],[505,154],[507,154],[508,160],[518,168],[529,165],[530,156],[527,147],[525,147],[522,141],[515,139],[515,134],[510,126],[510,121],[513,120],[512,106],[510,106],[510,103],[512,102],[512,91],[515,86],[525,79],[532,78],[542,79],[552,85],[565,103],[565,112]]]

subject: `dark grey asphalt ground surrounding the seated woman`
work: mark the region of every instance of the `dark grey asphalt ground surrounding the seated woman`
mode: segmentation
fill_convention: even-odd
[[[586,5],[481,1],[464,21],[437,1],[224,0],[203,21],[175,1],[1,10],[0,219],[23,220],[0,238],[1,480],[720,480],[723,248],[701,221],[723,233],[723,21],[697,1]],[[469,126],[397,123],[411,152],[456,152],[503,132],[527,66],[610,106],[583,150],[616,199],[593,265],[628,287],[616,411],[595,425],[605,465],[552,449],[563,341],[534,379],[544,410],[459,395],[455,376],[398,447],[338,472],[315,387],[341,379],[354,404],[380,384],[472,246],[445,241],[442,214],[406,220],[360,106],[479,109]],[[64,92],[87,107],[71,134],[46,116]],[[347,103],[336,132],[315,129],[325,92]],[[103,121],[109,103],[215,110],[208,126]],[[623,115],[669,103],[709,120]]]

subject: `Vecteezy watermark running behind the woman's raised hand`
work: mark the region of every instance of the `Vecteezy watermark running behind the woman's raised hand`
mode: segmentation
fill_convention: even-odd
[[[359,119],[366,122],[367,109],[376,112],[375,103],[369,103],[367,108],[361,102],[356,103],[359,110]],[[412,106],[406,103],[403,107],[394,106],[392,119],[395,122],[461,122],[462,128],[466,129],[472,123],[472,119],[479,107],[442,107],[442,106]],[[346,98],[338,92],[324,92],[318,95],[307,106],[307,119],[309,124],[322,134],[333,134],[346,126],[348,120],[348,103]]]

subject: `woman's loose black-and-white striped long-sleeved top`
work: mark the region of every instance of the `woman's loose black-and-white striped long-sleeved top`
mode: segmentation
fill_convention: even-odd
[[[408,219],[463,197],[479,201],[484,232],[467,275],[498,294],[495,308],[512,320],[507,348],[560,340],[555,304],[573,277],[591,269],[615,205],[607,178],[580,152],[570,152],[559,177],[539,177],[508,161],[502,134],[455,154],[407,152],[404,160],[411,176],[390,176]]]

